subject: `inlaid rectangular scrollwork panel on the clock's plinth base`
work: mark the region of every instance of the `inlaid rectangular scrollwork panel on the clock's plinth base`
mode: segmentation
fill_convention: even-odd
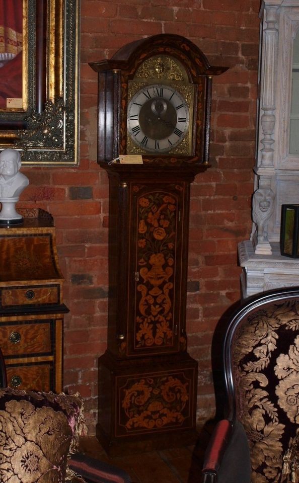
[[[195,384],[195,365],[182,370],[117,377],[117,435],[191,428]]]

